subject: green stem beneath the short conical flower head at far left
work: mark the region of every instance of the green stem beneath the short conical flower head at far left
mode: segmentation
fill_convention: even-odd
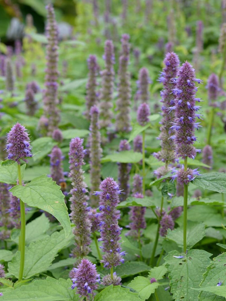
[[[17,165],[18,171],[18,180],[19,185],[22,185],[22,178],[21,178],[21,171],[20,171],[20,164]],[[25,259],[25,206],[24,202],[20,200],[20,223],[21,223],[21,230],[20,230],[20,272],[18,280],[23,279],[24,273],[24,259]]]

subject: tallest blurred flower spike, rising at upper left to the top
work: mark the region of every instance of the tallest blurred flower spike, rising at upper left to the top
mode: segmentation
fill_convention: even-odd
[[[44,117],[48,119],[47,132],[46,127],[42,127],[43,134],[52,136],[54,129],[58,128],[60,114],[57,108],[58,104],[58,28],[55,20],[55,13],[52,4],[46,6],[47,9],[47,40],[46,46],[46,91],[43,99]],[[42,118],[42,116],[41,116]],[[40,123],[40,126],[42,124]]]

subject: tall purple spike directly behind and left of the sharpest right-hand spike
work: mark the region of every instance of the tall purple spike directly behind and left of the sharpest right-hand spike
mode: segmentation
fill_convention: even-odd
[[[160,127],[159,140],[161,141],[161,151],[154,153],[154,156],[167,164],[175,162],[175,145],[174,141],[169,139],[172,132],[172,122],[174,121],[174,110],[168,110],[168,107],[175,107],[175,96],[172,94],[174,88],[173,78],[176,77],[180,64],[177,54],[174,52],[167,53],[164,59],[165,67],[160,74],[159,81],[163,84],[162,96],[162,121]]]

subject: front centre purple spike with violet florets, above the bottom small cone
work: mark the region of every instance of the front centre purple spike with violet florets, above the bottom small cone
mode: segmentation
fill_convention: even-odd
[[[101,262],[104,263],[105,268],[112,268],[121,265],[124,262],[121,254],[121,246],[119,243],[121,229],[118,226],[118,219],[120,218],[120,211],[116,209],[119,203],[120,194],[118,184],[113,178],[106,178],[100,184],[100,235],[102,250],[105,253]]]

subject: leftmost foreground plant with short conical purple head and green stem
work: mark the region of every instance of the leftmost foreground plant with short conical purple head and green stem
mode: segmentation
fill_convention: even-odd
[[[16,123],[11,131],[7,134],[6,150],[8,153],[8,159],[17,162],[18,171],[18,182],[22,185],[20,160],[27,162],[27,157],[32,157],[30,138],[24,126],[20,123]],[[25,258],[25,205],[20,200],[20,222],[21,222],[21,233],[20,233],[20,271],[18,280],[23,279],[24,272],[24,258]]]

